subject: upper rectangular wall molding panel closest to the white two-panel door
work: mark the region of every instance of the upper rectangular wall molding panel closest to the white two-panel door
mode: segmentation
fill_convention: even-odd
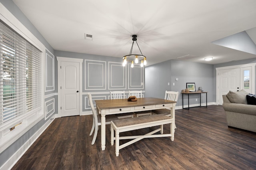
[[[85,90],[106,90],[106,61],[85,59],[84,72]]]

